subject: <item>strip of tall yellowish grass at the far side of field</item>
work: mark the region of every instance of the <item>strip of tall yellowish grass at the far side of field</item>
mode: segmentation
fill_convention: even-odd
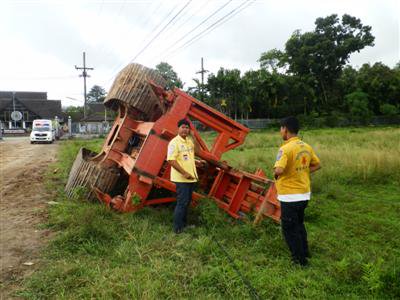
[[[400,129],[330,129],[300,132],[313,146],[323,168],[314,187],[338,183],[400,183]],[[278,132],[250,133],[239,148],[223,159],[239,169],[262,168],[270,176],[281,138]]]

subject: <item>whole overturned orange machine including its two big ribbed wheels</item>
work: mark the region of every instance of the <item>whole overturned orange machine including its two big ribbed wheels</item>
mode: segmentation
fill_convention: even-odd
[[[199,186],[193,202],[214,200],[234,218],[256,215],[280,219],[273,181],[261,170],[255,174],[234,169],[222,155],[243,144],[249,129],[178,88],[165,90],[164,79],[154,70],[130,64],[117,76],[104,104],[118,111],[99,154],[81,149],[70,172],[66,193],[85,187],[88,198],[97,198],[121,212],[174,202],[175,184],[166,161],[169,141],[177,135],[177,122],[191,122],[200,145]],[[217,135],[212,146],[201,138],[192,121]],[[197,126],[198,127],[198,126]]]

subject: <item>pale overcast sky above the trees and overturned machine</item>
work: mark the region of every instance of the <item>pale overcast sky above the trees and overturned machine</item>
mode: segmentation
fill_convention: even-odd
[[[334,13],[350,14],[372,26],[375,46],[353,54],[353,66],[381,61],[393,67],[400,60],[398,3],[2,0],[0,90],[45,91],[63,106],[82,105],[83,80],[75,65],[82,66],[83,51],[87,66],[94,68],[88,90],[95,84],[108,90],[118,70],[135,57],[148,67],[168,62],[186,88],[194,85],[192,78],[199,78],[201,57],[213,73],[220,67],[258,69],[262,52],[283,49],[293,31],[313,30],[316,18]],[[219,26],[212,26],[224,16]]]

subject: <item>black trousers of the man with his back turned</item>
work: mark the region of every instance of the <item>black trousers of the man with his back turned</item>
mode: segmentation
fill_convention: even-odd
[[[281,202],[283,236],[295,262],[304,264],[309,257],[304,210],[308,201]]]

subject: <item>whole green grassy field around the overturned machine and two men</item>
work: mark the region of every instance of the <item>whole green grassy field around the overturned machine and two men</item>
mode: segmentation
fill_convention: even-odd
[[[311,266],[290,263],[280,228],[234,221],[204,200],[172,233],[173,206],[117,214],[82,199],[66,200],[63,187],[80,146],[66,142],[58,189],[46,226],[57,232],[43,266],[18,292],[29,299],[272,299],[400,297],[400,128],[310,130],[323,169],[313,175],[306,211]],[[271,174],[277,132],[254,132],[224,159]]]

